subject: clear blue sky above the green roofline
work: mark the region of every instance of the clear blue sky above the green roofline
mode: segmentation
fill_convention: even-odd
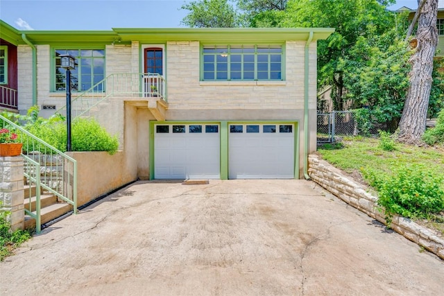
[[[178,28],[188,12],[180,10],[186,2],[189,0],[0,0],[0,19],[19,30]],[[417,0],[398,0],[390,8],[402,6],[414,9]]]

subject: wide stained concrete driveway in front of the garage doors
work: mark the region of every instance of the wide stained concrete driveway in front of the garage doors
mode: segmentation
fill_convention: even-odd
[[[0,267],[1,295],[444,291],[444,261],[305,180],[137,182]]]

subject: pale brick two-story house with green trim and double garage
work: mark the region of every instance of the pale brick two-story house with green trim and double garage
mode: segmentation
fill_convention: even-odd
[[[19,31],[0,21],[0,85],[17,92],[19,112],[49,116],[66,103],[69,54],[73,116],[118,133],[140,179],[299,178],[316,150],[316,40],[333,31]]]

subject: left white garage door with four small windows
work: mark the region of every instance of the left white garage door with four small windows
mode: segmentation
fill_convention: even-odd
[[[155,125],[156,179],[219,179],[219,125]]]

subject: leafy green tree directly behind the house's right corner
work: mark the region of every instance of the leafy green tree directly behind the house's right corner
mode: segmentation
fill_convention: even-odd
[[[395,27],[393,12],[382,5],[387,3],[393,1],[293,0],[287,4],[287,16],[281,26],[335,28],[327,40],[318,42],[318,87],[332,85],[336,110],[344,110],[348,100],[346,82],[356,76],[355,62],[373,54],[356,51],[358,40],[372,40]]]

